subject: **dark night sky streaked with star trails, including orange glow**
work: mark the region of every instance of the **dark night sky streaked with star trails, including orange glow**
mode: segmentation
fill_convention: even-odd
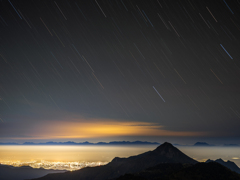
[[[1,0],[0,141],[240,143],[237,0]]]

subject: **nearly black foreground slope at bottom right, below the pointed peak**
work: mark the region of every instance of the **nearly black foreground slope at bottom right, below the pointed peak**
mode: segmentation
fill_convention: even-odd
[[[159,164],[135,174],[125,174],[115,180],[240,180],[240,175],[221,164]]]

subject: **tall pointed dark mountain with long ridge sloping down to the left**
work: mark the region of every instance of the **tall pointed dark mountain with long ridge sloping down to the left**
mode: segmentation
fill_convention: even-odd
[[[115,157],[110,163],[100,167],[87,167],[73,172],[49,174],[36,180],[106,180],[126,173],[140,172],[160,163],[196,164],[170,143],[163,143],[153,151],[128,158]]]

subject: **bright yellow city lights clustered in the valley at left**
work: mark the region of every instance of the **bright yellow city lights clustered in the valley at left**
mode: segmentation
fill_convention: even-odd
[[[67,170],[67,171],[75,171],[82,169],[84,167],[95,167],[102,166],[107,164],[108,162],[54,162],[54,161],[0,161],[0,164],[11,165],[14,167],[21,166],[30,166],[32,168],[43,168],[43,169],[53,169],[53,170]]]

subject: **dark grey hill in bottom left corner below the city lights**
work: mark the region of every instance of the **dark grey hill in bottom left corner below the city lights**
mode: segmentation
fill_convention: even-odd
[[[1,180],[25,180],[45,176],[49,173],[62,173],[60,170],[35,169],[29,166],[13,167],[0,164]]]

